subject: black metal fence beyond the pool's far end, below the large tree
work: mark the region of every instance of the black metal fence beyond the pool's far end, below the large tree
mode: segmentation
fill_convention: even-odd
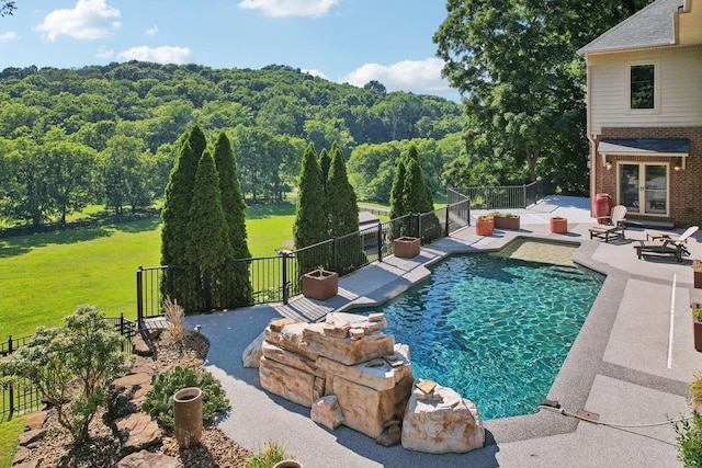
[[[525,208],[543,199],[548,193],[546,179],[524,185],[480,186],[454,189],[471,198],[474,209]]]

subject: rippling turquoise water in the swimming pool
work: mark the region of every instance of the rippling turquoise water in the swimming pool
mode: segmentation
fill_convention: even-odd
[[[451,387],[486,419],[533,413],[546,398],[603,277],[494,254],[453,255],[383,306],[409,344],[415,377]]]

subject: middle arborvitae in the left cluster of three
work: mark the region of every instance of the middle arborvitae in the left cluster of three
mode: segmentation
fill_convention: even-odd
[[[220,284],[217,272],[226,261],[231,259],[233,250],[229,242],[229,227],[227,226],[222,193],[219,192],[219,175],[215,160],[205,149],[197,164],[195,175],[195,192],[190,206],[188,222],[188,244],[185,260],[197,265],[200,270],[200,290],[202,292],[202,308],[211,310],[222,307],[213,301],[219,297],[225,285]]]

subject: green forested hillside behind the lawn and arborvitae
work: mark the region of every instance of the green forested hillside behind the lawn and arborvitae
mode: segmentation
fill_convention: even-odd
[[[396,158],[419,148],[430,186],[460,151],[462,110],[431,95],[261,70],[129,61],[0,72],[0,218],[63,220],[87,204],[120,215],[163,194],[177,140],[194,123],[229,135],[248,203],[282,199],[307,142],[337,141],[361,198],[387,201]]]

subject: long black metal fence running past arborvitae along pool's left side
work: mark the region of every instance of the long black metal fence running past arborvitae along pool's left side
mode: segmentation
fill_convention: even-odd
[[[400,236],[421,238],[422,244],[449,236],[451,232],[469,225],[471,202],[457,191],[450,192],[450,203],[445,208],[423,214],[410,214],[389,221],[378,222],[347,236],[333,238],[298,250],[280,251],[275,256],[233,260],[247,262],[251,294],[249,303],[241,306],[283,303],[301,294],[301,278],[318,267],[335,271],[339,276],[347,275],[372,262],[382,262],[393,253],[392,240]],[[161,284],[165,273],[173,266],[139,266],[136,272],[137,322],[162,315],[163,303]],[[196,266],[177,266],[192,269]],[[188,310],[188,312],[203,312]]]

